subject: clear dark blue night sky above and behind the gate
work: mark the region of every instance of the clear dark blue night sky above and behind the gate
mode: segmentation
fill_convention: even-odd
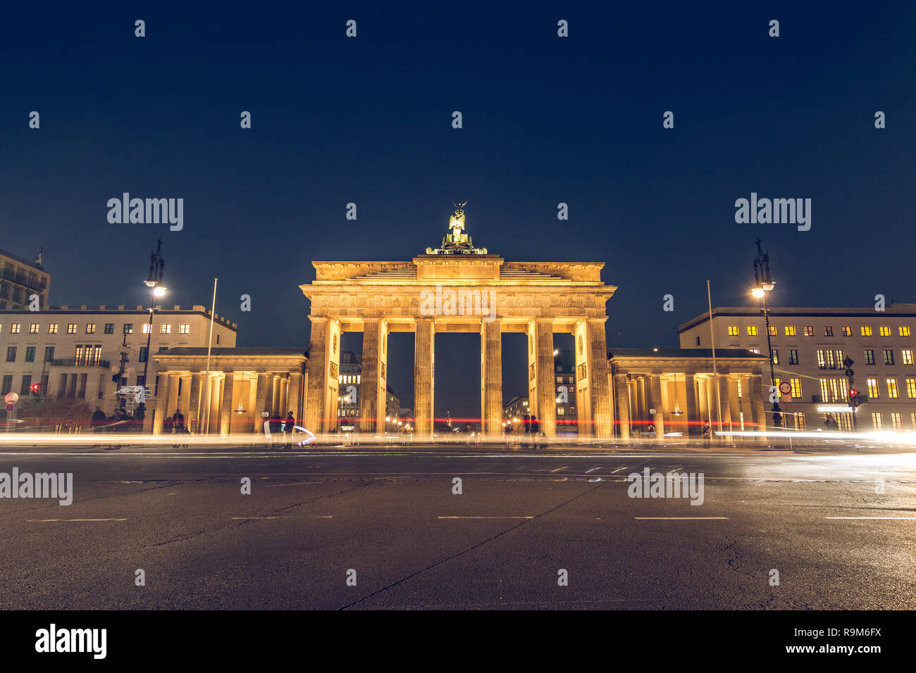
[[[54,305],[145,303],[161,236],[167,305],[209,306],[220,277],[238,345],[305,347],[311,260],[409,260],[459,200],[491,253],[605,262],[611,346],[676,346],[707,278],[714,305],[747,304],[758,236],[774,305],[916,299],[912,3],[159,5],[5,6],[0,246],[44,248]],[[125,191],[183,198],[183,230],[108,223]],[[811,230],[737,224],[752,191],[810,198]],[[436,349],[437,416],[478,415],[476,337]],[[391,350],[410,406],[412,336]]]

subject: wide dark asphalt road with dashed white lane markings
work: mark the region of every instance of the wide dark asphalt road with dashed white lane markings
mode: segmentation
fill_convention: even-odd
[[[0,499],[3,609],[916,608],[913,453],[0,451],[14,466],[72,472],[74,498]],[[645,467],[702,472],[703,505],[629,497]]]

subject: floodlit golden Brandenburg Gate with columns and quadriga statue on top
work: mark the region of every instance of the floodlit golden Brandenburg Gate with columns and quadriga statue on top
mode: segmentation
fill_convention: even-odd
[[[464,203],[438,248],[404,262],[312,262],[311,342],[305,425],[321,432],[337,422],[341,336],[363,332],[360,429],[385,424],[387,337],[414,332],[414,425],[432,433],[435,336],[480,334],[481,431],[502,432],[504,332],[528,334],[529,407],[548,437],[556,434],[553,334],[571,333],[580,436],[612,434],[605,304],[616,290],[601,280],[604,263],[508,262],[474,247],[464,232]]]

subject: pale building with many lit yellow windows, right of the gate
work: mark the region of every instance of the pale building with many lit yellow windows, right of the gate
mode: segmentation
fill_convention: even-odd
[[[759,308],[718,307],[712,319],[715,348],[767,353],[767,333]],[[849,386],[843,364],[855,364],[854,387],[867,395],[856,413],[859,430],[916,429],[916,304],[889,303],[875,309],[769,309],[769,339],[776,385],[791,386],[790,401],[780,398],[785,427],[853,428]],[[685,349],[712,344],[709,314],[678,330]],[[769,396],[769,364],[765,375]],[[768,404],[769,408],[769,404]],[[825,425],[827,421],[829,425]]]

